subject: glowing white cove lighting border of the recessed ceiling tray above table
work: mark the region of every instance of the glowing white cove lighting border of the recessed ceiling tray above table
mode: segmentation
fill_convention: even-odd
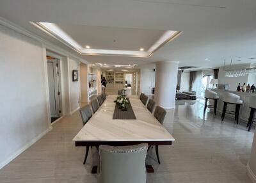
[[[63,31],[60,27],[58,27],[54,23],[48,22],[30,22],[37,28],[41,29],[45,33],[48,33],[52,37],[56,38],[63,44],[71,47],[75,51],[79,52],[79,54],[86,55],[111,55],[111,56],[131,56],[131,57],[149,57],[159,48],[163,47],[163,45],[172,41],[174,38],[179,36],[182,31],[172,31],[168,30],[163,33],[163,35],[147,50],[141,47],[140,51],[127,51],[127,50],[111,50],[111,49],[90,49],[89,45],[86,47],[82,47],[79,45],[76,40],[74,40],[71,36],[69,36],[65,31]]]

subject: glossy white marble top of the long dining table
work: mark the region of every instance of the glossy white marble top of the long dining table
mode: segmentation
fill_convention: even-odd
[[[136,95],[129,96],[136,120],[113,120],[116,95],[102,106],[73,141],[174,141],[173,136],[148,111]]]

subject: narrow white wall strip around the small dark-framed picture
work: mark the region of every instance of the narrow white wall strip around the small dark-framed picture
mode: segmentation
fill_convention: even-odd
[[[74,113],[80,107],[80,64],[79,60],[75,58],[69,58],[69,85],[70,85],[70,110]],[[78,70],[78,81],[72,81],[72,70]]]

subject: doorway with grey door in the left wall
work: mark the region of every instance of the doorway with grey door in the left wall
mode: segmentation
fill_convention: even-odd
[[[47,74],[51,122],[54,122],[61,117],[60,59],[47,56]]]

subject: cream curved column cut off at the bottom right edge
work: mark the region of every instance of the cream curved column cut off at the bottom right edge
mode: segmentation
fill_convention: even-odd
[[[252,142],[252,150],[250,161],[247,164],[246,173],[252,179],[252,182],[256,182],[256,131],[254,132],[253,142]]]

